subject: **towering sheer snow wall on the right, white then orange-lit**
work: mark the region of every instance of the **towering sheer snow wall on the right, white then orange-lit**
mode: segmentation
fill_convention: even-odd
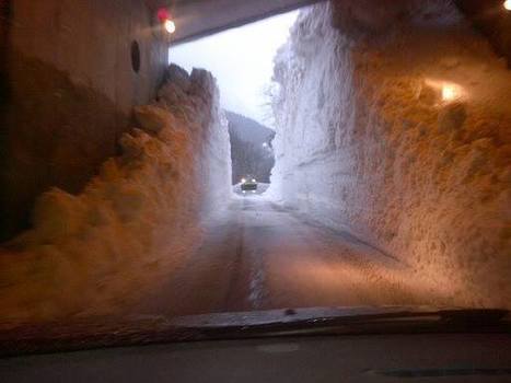
[[[272,193],[461,305],[511,305],[511,72],[450,1],[338,1],[275,59]]]

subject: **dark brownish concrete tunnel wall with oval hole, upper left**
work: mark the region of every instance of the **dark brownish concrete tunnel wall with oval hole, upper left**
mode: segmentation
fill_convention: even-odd
[[[1,237],[30,224],[50,186],[79,192],[116,153],[131,107],[154,96],[166,45],[141,0],[10,0],[1,117]],[[140,70],[131,45],[140,47]]]

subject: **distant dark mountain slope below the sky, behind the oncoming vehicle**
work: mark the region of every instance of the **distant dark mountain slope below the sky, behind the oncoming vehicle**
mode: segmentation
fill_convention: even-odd
[[[231,139],[232,184],[251,175],[258,182],[269,183],[275,165],[271,140],[275,131],[252,118],[227,112]]]

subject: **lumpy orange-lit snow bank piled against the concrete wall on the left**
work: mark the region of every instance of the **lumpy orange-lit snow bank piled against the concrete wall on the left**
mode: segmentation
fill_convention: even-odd
[[[158,101],[137,107],[78,196],[37,201],[34,229],[0,256],[2,321],[114,311],[138,299],[200,239],[198,222],[230,194],[230,147],[214,79],[172,66]]]

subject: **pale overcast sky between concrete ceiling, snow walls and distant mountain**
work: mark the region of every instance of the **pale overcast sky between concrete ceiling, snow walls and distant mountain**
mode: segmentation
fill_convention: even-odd
[[[263,92],[297,16],[294,11],[171,47],[169,60],[188,71],[208,69],[218,80],[222,107],[269,125]]]

